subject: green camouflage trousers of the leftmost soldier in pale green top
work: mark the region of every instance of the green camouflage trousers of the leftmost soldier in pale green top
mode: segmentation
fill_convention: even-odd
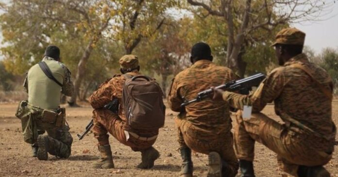
[[[56,126],[55,123],[44,122],[43,109],[22,101],[17,110],[17,117],[21,119],[22,133],[26,143],[34,145],[39,134],[47,131],[49,137],[49,153],[57,157],[68,158],[71,152],[73,138],[69,133],[69,127]],[[65,119],[65,117],[63,117]]]

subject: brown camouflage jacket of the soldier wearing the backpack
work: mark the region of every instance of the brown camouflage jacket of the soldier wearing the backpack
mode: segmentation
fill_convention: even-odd
[[[136,76],[138,72],[129,72],[128,75]],[[122,102],[122,89],[126,79],[123,75],[115,75],[113,78],[106,80],[102,83],[98,90],[96,90],[90,97],[89,103],[94,109],[101,109],[104,105],[108,104],[115,98],[118,98],[118,102]],[[124,116],[124,108],[121,104],[118,106],[118,116],[122,119],[123,122],[127,122],[126,117]],[[124,129],[132,131],[139,136],[151,137],[158,134],[158,130],[148,131],[148,132],[137,132],[131,127],[125,125]]]

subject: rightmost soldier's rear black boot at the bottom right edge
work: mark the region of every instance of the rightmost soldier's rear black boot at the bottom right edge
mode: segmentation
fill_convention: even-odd
[[[299,177],[330,177],[330,173],[323,166],[299,166]]]

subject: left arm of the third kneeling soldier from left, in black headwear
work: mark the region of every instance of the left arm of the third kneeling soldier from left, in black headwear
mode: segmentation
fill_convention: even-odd
[[[182,111],[182,108],[180,106],[183,103],[183,99],[179,94],[179,89],[177,88],[177,85],[177,81],[173,79],[168,95],[168,104],[172,111],[180,112]]]

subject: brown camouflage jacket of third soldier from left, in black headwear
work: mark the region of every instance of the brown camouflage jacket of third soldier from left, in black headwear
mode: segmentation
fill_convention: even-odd
[[[180,112],[184,100],[194,99],[197,94],[211,86],[218,86],[238,79],[229,68],[218,66],[208,60],[200,60],[186,70],[178,73],[172,81],[168,102],[171,110]],[[229,131],[231,118],[229,105],[223,101],[206,98],[186,106],[186,118],[192,125],[204,131]]]

